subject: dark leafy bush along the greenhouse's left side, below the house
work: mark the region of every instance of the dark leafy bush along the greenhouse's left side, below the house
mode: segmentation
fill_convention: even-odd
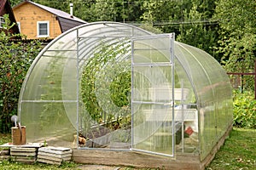
[[[12,37],[20,37],[9,33],[8,15],[4,15],[5,24],[0,32],[0,132],[10,131],[10,117],[17,114],[20,88],[26,71],[41,49],[39,41],[14,42]]]

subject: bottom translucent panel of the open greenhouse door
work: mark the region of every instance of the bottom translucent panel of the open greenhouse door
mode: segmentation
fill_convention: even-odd
[[[172,155],[172,110],[168,105],[133,104],[133,148]]]

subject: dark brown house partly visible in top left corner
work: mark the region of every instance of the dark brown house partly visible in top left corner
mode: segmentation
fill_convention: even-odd
[[[4,14],[9,14],[9,20],[11,21],[11,24],[16,23],[15,14],[13,13],[9,0],[0,0],[0,29],[3,28],[3,23],[5,22],[3,19]],[[13,26],[9,31],[15,34],[20,33],[19,27],[17,25]]]

